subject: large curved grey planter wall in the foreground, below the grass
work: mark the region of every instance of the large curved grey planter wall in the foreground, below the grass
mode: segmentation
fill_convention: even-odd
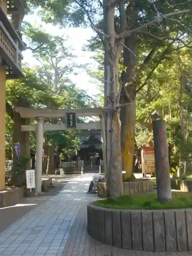
[[[192,209],[119,210],[90,203],[88,233],[129,250],[192,250]]]

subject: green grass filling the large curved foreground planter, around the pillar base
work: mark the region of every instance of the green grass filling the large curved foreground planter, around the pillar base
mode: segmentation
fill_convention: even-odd
[[[182,209],[192,208],[192,194],[188,192],[172,193],[172,200],[163,204],[157,201],[157,194],[123,195],[117,199],[101,199],[96,206],[111,209]]]

